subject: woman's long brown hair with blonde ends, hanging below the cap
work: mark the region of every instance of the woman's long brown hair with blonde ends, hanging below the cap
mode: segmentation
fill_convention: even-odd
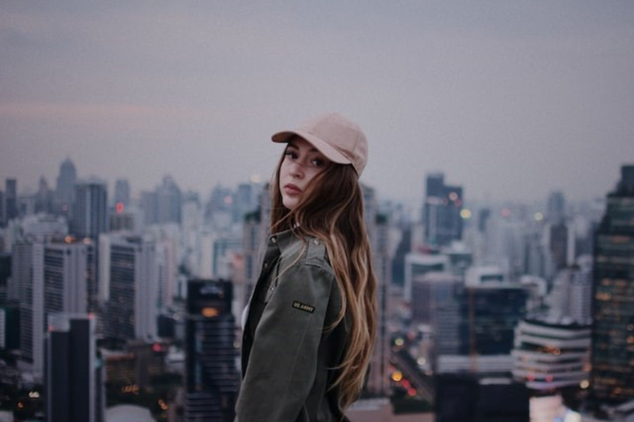
[[[350,322],[347,350],[332,387],[340,390],[340,406],[356,400],[366,379],[376,338],[376,276],[363,218],[363,193],[352,165],[330,163],[306,186],[294,210],[282,205],[280,165],[271,183],[271,232],[292,229],[299,236],[319,238],[342,297],[339,324]]]

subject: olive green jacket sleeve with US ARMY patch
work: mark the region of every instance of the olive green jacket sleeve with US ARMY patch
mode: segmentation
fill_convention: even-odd
[[[297,419],[315,380],[334,282],[329,267],[303,262],[282,269],[255,331],[236,421]]]

